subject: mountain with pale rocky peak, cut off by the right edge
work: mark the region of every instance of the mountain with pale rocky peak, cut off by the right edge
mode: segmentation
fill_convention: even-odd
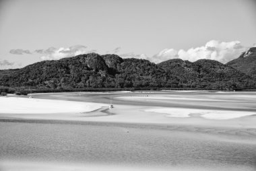
[[[249,48],[249,50],[242,53],[240,57],[226,63],[226,65],[246,73],[247,75],[251,75],[256,79],[256,47]]]

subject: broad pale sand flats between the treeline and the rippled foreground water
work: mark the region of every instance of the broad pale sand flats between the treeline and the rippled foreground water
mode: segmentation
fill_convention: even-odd
[[[154,94],[116,93],[77,96],[71,93],[38,94],[34,97],[0,98],[2,104],[9,104],[7,106],[13,105],[16,101],[23,102],[20,107],[24,108],[20,110],[15,103],[12,108],[5,105],[3,109],[6,112],[2,110],[0,118],[256,128],[253,124],[256,121],[255,107],[253,107],[256,100],[254,94],[226,96],[202,92],[193,94],[155,92]],[[208,99],[205,100],[207,97]],[[108,109],[107,103],[110,100],[113,100],[115,107]],[[55,103],[59,102],[63,103],[59,105],[61,108],[55,106]],[[34,104],[36,106],[33,106]],[[79,108],[75,107],[77,105]],[[47,109],[51,109],[52,106],[55,106],[54,113]]]

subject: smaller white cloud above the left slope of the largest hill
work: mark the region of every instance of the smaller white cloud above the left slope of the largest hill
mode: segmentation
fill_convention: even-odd
[[[42,60],[57,60],[65,57],[74,57],[76,55],[96,52],[96,50],[87,50],[86,46],[75,45],[75,46],[70,46],[69,48],[51,47],[51,48],[47,48],[46,50],[38,49],[38,50],[35,50],[35,52],[42,54],[42,57],[40,57],[40,59]]]

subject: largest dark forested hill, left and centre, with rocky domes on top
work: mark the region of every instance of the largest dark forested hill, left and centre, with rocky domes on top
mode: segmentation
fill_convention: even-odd
[[[51,89],[143,88],[168,86],[166,80],[170,77],[150,61],[90,53],[28,65],[3,75],[0,85]]]

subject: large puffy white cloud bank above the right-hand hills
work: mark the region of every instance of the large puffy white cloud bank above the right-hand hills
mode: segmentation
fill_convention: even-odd
[[[239,57],[247,48],[247,46],[243,46],[239,41],[220,42],[218,40],[210,40],[205,46],[189,48],[189,50],[166,48],[154,55],[150,60],[160,63],[161,61],[177,58],[191,62],[198,59],[212,59],[221,63],[227,63]]]

